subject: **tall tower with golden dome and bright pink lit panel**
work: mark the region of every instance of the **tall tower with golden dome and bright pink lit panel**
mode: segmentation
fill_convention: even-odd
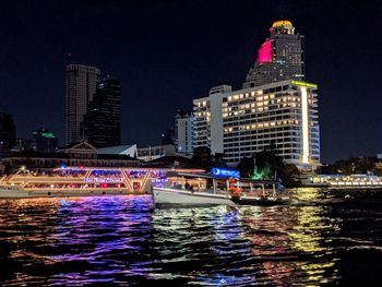
[[[243,88],[284,80],[305,80],[303,36],[295,34],[295,27],[287,20],[273,23],[270,32],[271,37],[260,47]]]

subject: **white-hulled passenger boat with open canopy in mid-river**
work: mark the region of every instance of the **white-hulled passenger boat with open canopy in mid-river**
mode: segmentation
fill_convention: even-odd
[[[153,196],[156,205],[275,205],[289,202],[283,190],[273,180],[178,172],[167,187],[154,187]]]

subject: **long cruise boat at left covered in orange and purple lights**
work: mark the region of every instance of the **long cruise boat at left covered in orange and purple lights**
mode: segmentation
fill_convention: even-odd
[[[204,172],[202,169],[62,167],[34,174],[21,168],[0,178],[0,198],[145,194],[152,187],[164,187],[169,171]]]

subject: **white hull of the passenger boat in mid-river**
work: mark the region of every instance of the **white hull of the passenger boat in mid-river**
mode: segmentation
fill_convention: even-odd
[[[207,192],[191,192],[186,190],[154,188],[153,196],[155,205],[235,205],[231,199],[225,194]]]

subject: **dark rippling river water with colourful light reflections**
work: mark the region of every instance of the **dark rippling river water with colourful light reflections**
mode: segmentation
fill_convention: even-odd
[[[2,286],[382,286],[382,191],[288,206],[166,208],[150,195],[0,201]]]

